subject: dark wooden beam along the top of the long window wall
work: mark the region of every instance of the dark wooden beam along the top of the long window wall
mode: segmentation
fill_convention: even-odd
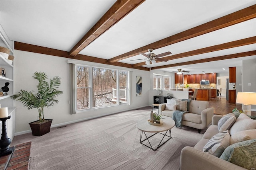
[[[126,67],[126,68],[134,68],[132,66],[132,64],[126,64],[126,63],[120,63],[120,62],[108,63],[108,60],[106,60],[106,59],[100,59],[97,57],[91,57],[88,55],[81,55],[81,54],[78,54],[74,57],[74,56],[70,56],[68,51],[61,51],[61,50],[51,49],[48,47],[42,47],[42,46],[38,46],[38,45],[20,43],[17,41],[14,42],[14,49],[20,50],[20,51],[28,51],[28,52],[32,52],[32,53],[52,55],[52,56],[57,56],[57,57],[64,57],[64,58],[68,58],[68,59],[89,61],[89,62],[93,62],[93,63],[101,63],[101,64],[108,64],[108,65],[113,65],[113,66],[121,66],[121,67]],[[150,70],[150,68],[146,68],[146,67],[136,67],[134,69],[146,70],[146,71]]]

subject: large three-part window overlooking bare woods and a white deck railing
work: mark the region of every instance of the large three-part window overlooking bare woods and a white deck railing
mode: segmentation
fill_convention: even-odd
[[[76,66],[77,110],[128,103],[128,71]]]

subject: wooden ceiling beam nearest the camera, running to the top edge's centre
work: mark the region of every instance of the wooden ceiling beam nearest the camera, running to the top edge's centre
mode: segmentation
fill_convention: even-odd
[[[132,12],[145,0],[117,0],[116,3],[100,18],[100,20],[78,41],[71,49],[69,55],[76,56],[82,49],[92,43],[96,38],[118,23],[127,14]]]

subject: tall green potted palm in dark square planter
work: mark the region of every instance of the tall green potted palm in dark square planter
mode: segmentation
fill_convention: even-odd
[[[38,110],[39,120],[30,122],[29,125],[32,130],[32,135],[42,136],[50,132],[52,124],[52,119],[44,119],[44,107],[48,108],[58,103],[58,100],[55,98],[63,94],[63,92],[58,90],[61,84],[60,77],[58,76],[51,78],[50,82],[46,82],[48,78],[45,72],[35,72],[32,77],[38,80],[38,85],[36,86],[38,93],[20,90],[20,92],[16,92],[16,94],[12,95],[11,98],[22,102],[29,110],[34,108]]]

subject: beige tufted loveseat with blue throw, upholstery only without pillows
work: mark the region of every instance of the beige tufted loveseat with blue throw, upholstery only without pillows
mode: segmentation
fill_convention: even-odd
[[[213,108],[209,107],[209,102],[207,101],[191,100],[188,111],[183,114],[182,125],[196,128],[198,133],[212,122]],[[164,103],[159,105],[159,113],[172,117],[174,111],[166,110],[166,103]]]

